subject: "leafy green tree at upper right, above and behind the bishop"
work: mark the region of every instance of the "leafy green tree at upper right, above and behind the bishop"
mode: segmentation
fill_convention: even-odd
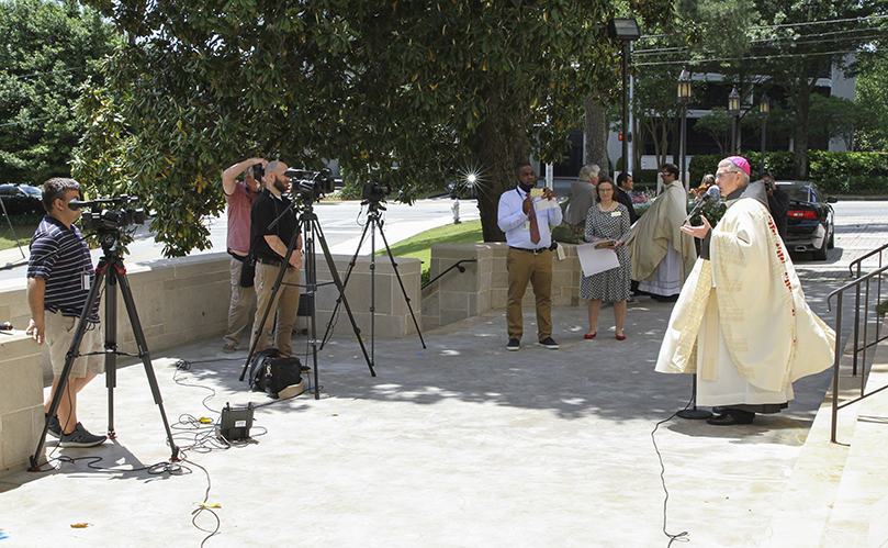
[[[682,24],[641,44],[647,57],[640,67],[688,66],[697,74],[721,74],[737,87],[744,104],[756,104],[763,91],[780,88],[793,105],[795,177],[805,179],[818,79],[833,69],[851,74],[853,54],[879,51],[886,35],[881,15],[888,13],[888,3],[679,0],[676,11]],[[884,81],[874,80],[873,93]],[[654,109],[660,110],[667,112],[665,107]],[[744,112],[741,127],[760,124],[754,109]]]

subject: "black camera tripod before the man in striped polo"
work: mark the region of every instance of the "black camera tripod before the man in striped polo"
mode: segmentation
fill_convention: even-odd
[[[104,255],[99,260],[95,267],[95,280],[90,288],[87,302],[83,305],[83,312],[80,314],[80,320],[77,323],[77,328],[74,333],[74,340],[65,355],[65,367],[61,370],[61,376],[56,388],[56,393],[53,396],[53,402],[49,404],[49,414],[46,417],[46,423],[43,426],[43,433],[37,443],[37,449],[31,456],[31,471],[40,471],[37,463],[38,456],[45,444],[46,433],[49,429],[49,421],[55,416],[58,411],[58,404],[65,395],[65,385],[68,382],[68,376],[74,368],[74,360],[80,354],[80,343],[83,339],[83,334],[87,331],[89,316],[99,300],[100,289],[104,282],[105,295],[105,325],[104,325],[104,360],[105,360],[105,385],[108,387],[108,436],[111,438],[116,437],[114,433],[114,387],[117,384],[117,355],[133,356],[131,354],[117,351],[117,293],[115,286],[120,284],[121,294],[123,295],[123,303],[126,306],[126,313],[130,317],[130,324],[133,326],[133,335],[136,339],[138,348],[137,357],[142,358],[142,364],[145,367],[145,374],[148,378],[148,385],[151,388],[154,402],[160,410],[160,417],[164,421],[164,428],[167,432],[167,441],[169,443],[170,460],[179,460],[179,448],[172,439],[172,430],[170,429],[169,422],[167,421],[167,413],[164,410],[164,400],[160,398],[160,389],[157,385],[157,377],[151,366],[150,355],[148,347],[145,343],[145,334],[142,331],[142,323],[138,320],[136,312],[136,304],[133,300],[133,292],[130,289],[130,281],[126,279],[126,267],[123,265],[123,258],[120,255],[120,230],[99,230],[99,239],[102,244]]]

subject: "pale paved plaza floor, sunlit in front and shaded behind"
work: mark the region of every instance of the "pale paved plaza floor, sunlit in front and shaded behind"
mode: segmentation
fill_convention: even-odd
[[[830,289],[805,287],[819,303]],[[426,349],[416,337],[375,340],[375,378],[358,344],[339,337],[318,353],[321,400],[258,409],[254,441],[227,450],[211,428],[186,423],[215,421],[226,402],[272,402],[237,380],[245,353],[223,355],[215,339],[165,351],[153,361],[167,416],[182,421],[182,469],[128,471],[170,451],[144,369],[125,367],[115,443],[50,441],[53,457],[82,459],[0,477],[0,528],[10,535],[0,547],[199,546],[207,534],[191,519],[205,496],[221,506],[210,547],[665,547],[651,434],[690,392],[688,377],[653,371],[671,309],[648,299],[630,306],[625,342],[614,338],[610,307],[594,340],[582,338],[585,307],[555,309],[560,350],[529,344],[527,311],[531,335],[517,353],[505,349],[497,311],[424,333]],[[178,371],[179,360],[191,369]],[[760,546],[830,378],[798,381],[787,411],[753,425],[660,425],[666,530],[687,532],[692,546]],[[103,429],[105,396],[101,382],[81,392],[93,432]],[[216,527],[206,512],[196,519]],[[90,526],[70,527],[80,523]]]

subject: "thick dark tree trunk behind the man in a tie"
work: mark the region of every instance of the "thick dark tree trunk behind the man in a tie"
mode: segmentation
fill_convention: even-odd
[[[506,235],[496,223],[496,211],[503,192],[517,184],[515,166],[530,158],[526,127],[522,121],[491,114],[467,139],[475,165],[483,166],[484,171],[484,191],[477,195],[484,242],[506,241]]]

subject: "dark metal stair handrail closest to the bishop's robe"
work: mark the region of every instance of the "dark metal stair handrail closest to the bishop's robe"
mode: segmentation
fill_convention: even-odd
[[[872,254],[870,254],[870,256],[872,256]],[[844,402],[841,405],[839,404],[839,364],[840,364],[840,361],[842,359],[842,348],[841,348],[841,346],[842,346],[842,307],[843,307],[842,304],[843,304],[843,297],[844,297],[843,294],[848,289],[855,288],[855,292],[856,292],[855,306],[856,306],[856,310],[855,310],[855,315],[854,315],[854,343],[853,343],[854,370],[853,370],[853,376],[856,376],[857,374],[856,373],[857,353],[861,350],[861,348],[859,348],[859,343],[861,342],[859,342],[859,337],[858,337],[859,309],[861,309],[861,284],[866,283],[866,297],[865,297],[864,301],[865,301],[865,303],[868,303],[869,302],[869,280],[872,280],[873,278],[878,277],[877,280],[879,281],[879,284],[878,284],[879,290],[878,290],[878,292],[876,294],[876,301],[878,302],[878,299],[881,295],[881,275],[886,270],[888,270],[888,266],[880,267],[877,270],[874,270],[874,271],[867,273],[866,276],[858,276],[853,281],[851,281],[848,283],[845,283],[844,286],[842,286],[841,288],[839,288],[835,291],[831,292],[827,297],[827,305],[829,307],[829,311],[832,312],[832,304],[831,304],[830,301],[832,300],[833,295],[839,295],[839,298],[836,300],[836,305],[835,305],[835,334],[836,334],[836,336],[835,336],[835,359],[833,360],[833,365],[832,365],[832,425],[831,425],[831,429],[830,429],[830,441],[832,441],[833,444],[836,443],[835,433],[836,433],[836,428],[838,428],[839,410],[843,409],[843,407],[846,407],[846,406],[848,406],[848,405],[851,405],[853,403],[856,403],[856,402],[858,402],[858,401],[861,401],[861,400],[863,400],[865,398],[868,398],[868,396],[870,396],[870,395],[873,395],[873,394],[875,394],[877,392],[880,392],[881,390],[884,390],[886,388],[886,387],[883,387],[883,388],[879,388],[877,390],[874,390],[873,392],[866,393],[866,348],[867,348],[867,344],[866,344],[866,322],[868,322],[868,309],[869,309],[869,306],[864,306],[865,312],[864,312],[863,367],[861,368],[862,369],[862,371],[861,371],[861,373],[862,373],[861,374],[861,396],[856,398],[854,400]],[[878,325],[877,325],[876,328],[877,328],[877,331],[876,331],[876,339],[878,340],[878,338],[879,338]]]

